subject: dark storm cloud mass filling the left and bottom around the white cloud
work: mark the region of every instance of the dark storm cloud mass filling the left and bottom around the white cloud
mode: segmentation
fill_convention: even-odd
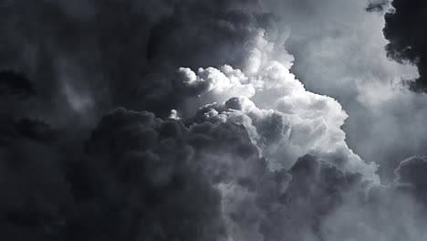
[[[423,158],[402,162],[382,192],[310,155],[270,171],[237,117],[157,118],[207,88],[182,86],[176,68],[243,68],[258,30],[276,31],[258,1],[176,3],[0,2],[1,240],[382,241],[423,230],[401,217],[424,202]],[[120,108],[95,124],[117,106],[151,112]],[[259,121],[267,147],[286,129],[277,114]]]

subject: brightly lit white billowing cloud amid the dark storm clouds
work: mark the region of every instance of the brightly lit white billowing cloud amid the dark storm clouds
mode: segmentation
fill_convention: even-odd
[[[250,57],[257,65],[248,64],[247,76],[230,66],[199,68],[197,73],[178,70],[184,86],[199,89],[199,104],[218,102],[205,105],[191,121],[243,124],[273,168],[288,168],[311,153],[378,181],[375,164],[363,162],[349,149],[340,129],[348,115],[339,103],[307,91],[289,67],[269,58],[275,46],[263,40],[263,46],[271,47],[263,49],[264,58]]]

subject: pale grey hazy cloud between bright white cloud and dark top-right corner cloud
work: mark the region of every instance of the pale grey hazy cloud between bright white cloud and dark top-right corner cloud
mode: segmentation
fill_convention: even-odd
[[[366,11],[380,2],[264,0],[261,5],[290,29],[286,49],[297,59],[292,73],[306,89],[338,100],[350,116],[343,126],[349,146],[363,160],[378,162],[381,178],[392,182],[401,160],[426,154],[421,126],[427,112],[426,97],[402,85],[402,79],[418,79],[417,68],[387,58],[386,11]]]

